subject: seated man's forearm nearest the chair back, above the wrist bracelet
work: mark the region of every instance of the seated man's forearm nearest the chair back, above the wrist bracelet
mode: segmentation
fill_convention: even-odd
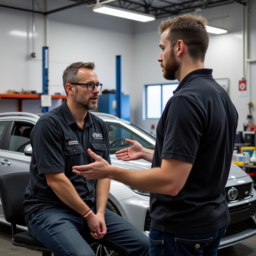
[[[80,215],[85,214],[90,209],[80,198],[76,189],[65,174],[56,173],[54,178],[50,179],[50,182],[47,180],[47,183],[64,204],[78,212]]]

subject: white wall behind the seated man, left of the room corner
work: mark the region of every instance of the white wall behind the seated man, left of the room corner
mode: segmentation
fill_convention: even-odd
[[[27,1],[16,3],[27,6]],[[70,1],[48,1],[48,9],[60,7],[58,2],[69,5]],[[0,1],[2,4],[2,1]],[[4,3],[7,4],[7,3]],[[41,3],[42,4],[42,3]],[[8,4],[7,4],[8,5]],[[52,6],[54,5],[54,6]],[[41,6],[44,11],[44,6]],[[32,32],[32,14],[0,8],[1,59],[0,93],[8,89],[16,91],[36,90],[42,92],[42,46],[45,45],[45,18],[36,14],[36,58],[31,58],[32,37],[10,35],[10,31]],[[73,7],[48,16],[49,19],[49,94],[64,93],[63,70],[72,62],[94,61],[95,72],[102,90],[116,87],[116,55],[122,56],[122,92],[131,94],[133,22],[130,20],[92,12],[86,5]],[[0,112],[7,111],[7,99],[0,100]],[[60,101],[53,101],[53,106]],[[15,104],[16,106],[14,106]],[[31,108],[34,104],[34,108]],[[8,108],[9,109],[9,108]],[[40,100],[23,100],[24,111],[39,112]],[[12,100],[12,109],[17,110],[17,101]],[[132,115],[131,115],[132,116]]]

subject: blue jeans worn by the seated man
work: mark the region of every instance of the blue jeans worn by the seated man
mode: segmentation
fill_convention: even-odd
[[[96,213],[96,206],[92,207]],[[95,256],[88,243],[97,242],[122,255],[149,255],[148,237],[129,221],[106,209],[107,233],[95,240],[86,219],[72,209],[46,208],[33,213],[28,221],[32,237],[57,256]]]

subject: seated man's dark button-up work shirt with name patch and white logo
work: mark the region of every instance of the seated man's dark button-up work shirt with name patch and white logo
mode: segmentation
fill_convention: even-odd
[[[65,173],[82,200],[88,206],[95,204],[96,181],[73,173],[72,166],[95,161],[89,156],[88,148],[111,164],[108,126],[102,119],[88,111],[82,130],[65,100],[38,119],[31,131],[30,143],[33,150],[24,201],[26,222],[38,209],[68,207],[47,185],[45,173]]]

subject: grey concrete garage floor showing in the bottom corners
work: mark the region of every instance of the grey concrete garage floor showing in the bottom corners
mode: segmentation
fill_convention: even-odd
[[[1,256],[37,256],[41,252],[12,245],[12,229],[10,226],[0,224],[0,255]],[[53,255],[53,254],[52,254]],[[242,243],[223,248],[218,251],[218,256],[255,256],[256,237]],[[75,255],[74,255],[75,256]],[[86,256],[86,255],[85,255]]]

